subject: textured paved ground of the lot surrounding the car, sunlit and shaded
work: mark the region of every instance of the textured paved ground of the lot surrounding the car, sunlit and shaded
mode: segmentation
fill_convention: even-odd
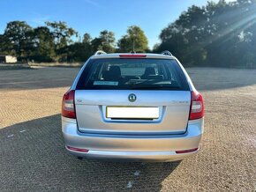
[[[201,151],[110,163],[64,150],[60,104],[77,69],[0,71],[0,191],[255,191],[256,70],[189,69],[206,103]]]

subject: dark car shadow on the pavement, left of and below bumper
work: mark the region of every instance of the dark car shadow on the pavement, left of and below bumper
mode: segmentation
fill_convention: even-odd
[[[64,149],[60,114],[0,129],[0,191],[159,191],[179,165],[79,160]]]

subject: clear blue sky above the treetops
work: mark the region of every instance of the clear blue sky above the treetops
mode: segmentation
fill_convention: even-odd
[[[217,0],[215,0],[216,2]],[[192,4],[205,5],[207,0],[11,0],[1,2],[0,33],[9,21],[24,20],[30,26],[45,21],[66,21],[81,35],[96,37],[107,29],[118,40],[127,26],[138,25],[147,35],[149,47],[159,41],[168,26]]]

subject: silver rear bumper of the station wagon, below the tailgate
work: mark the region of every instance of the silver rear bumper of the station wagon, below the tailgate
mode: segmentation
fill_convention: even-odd
[[[124,159],[135,161],[176,161],[185,159],[197,151],[176,151],[199,148],[204,120],[188,123],[182,135],[165,136],[117,136],[85,134],[79,132],[75,120],[62,118],[62,131],[66,146],[87,149],[87,152],[70,151],[73,155],[93,159]]]

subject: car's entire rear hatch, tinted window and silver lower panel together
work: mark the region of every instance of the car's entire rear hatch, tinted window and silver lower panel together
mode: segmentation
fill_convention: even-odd
[[[95,59],[75,91],[79,131],[86,133],[183,134],[190,105],[191,92],[175,60]]]

